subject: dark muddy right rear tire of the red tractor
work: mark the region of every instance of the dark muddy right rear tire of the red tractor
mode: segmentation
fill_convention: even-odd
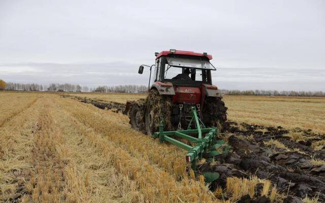
[[[206,126],[215,126],[222,131],[227,120],[227,109],[218,97],[207,97],[203,104],[202,116]]]

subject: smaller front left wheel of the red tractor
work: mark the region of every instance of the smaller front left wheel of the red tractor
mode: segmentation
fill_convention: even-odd
[[[130,124],[132,128],[138,130],[138,131],[144,131],[145,130],[145,125],[144,125],[144,103],[141,101],[137,102],[135,101],[134,103],[131,104],[128,117],[130,119]]]

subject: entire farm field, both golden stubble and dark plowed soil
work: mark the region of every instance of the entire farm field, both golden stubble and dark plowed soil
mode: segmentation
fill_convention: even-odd
[[[210,190],[202,176],[186,172],[184,150],[133,130],[121,113],[75,97],[124,104],[144,94],[69,95],[0,92],[0,201],[324,200],[323,98],[225,96],[231,122],[220,136],[232,155],[201,166],[230,176]]]

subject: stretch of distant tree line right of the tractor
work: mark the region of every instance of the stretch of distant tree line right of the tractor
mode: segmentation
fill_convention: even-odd
[[[325,96],[322,91],[277,91],[277,90],[221,90],[229,95],[268,95],[268,96]]]

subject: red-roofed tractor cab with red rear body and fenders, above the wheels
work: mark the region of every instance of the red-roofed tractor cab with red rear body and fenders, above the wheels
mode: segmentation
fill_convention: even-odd
[[[174,104],[197,105],[203,103],[205,96],[221,97],[221,92],[212,85],[211,71],[216,68],[210,63],[211,55],[171,49],[155,56],[155,64],[148,66],[149,90],[171,95]],[[147,65],[139,67],[140,74],[144,66]]]

